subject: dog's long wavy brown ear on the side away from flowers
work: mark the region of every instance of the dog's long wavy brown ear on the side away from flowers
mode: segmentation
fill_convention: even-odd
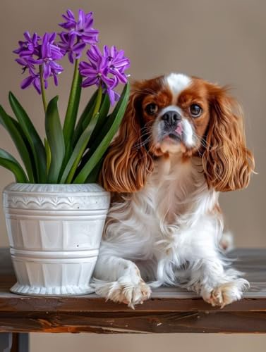
[[[246,147],[241,108],[235,99],[210,84],[210,122],[202,155],[209,187],[231,191],[248,186],[254,170],[253,154]]]

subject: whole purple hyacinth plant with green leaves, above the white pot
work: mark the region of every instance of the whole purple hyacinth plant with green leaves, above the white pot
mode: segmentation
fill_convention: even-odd
[[[126,69],[130,62],[123,50],[116,49],[116,46],[99,49],[99,32],[92,27],[91,12],[79,10],[75,18],[73,12],[68,10],[63,18],[64,22],[59,24],[61,32],[46,32],[43,36],[25,32],[24,39],[13,51],[16,62],[26,74],[21,87],[32,86],[41,94],[45,122],[43,143],[12,92],[9,92],[8,98],[16,120],[0,105],[0,125],[11,135],[24,165],[0,148],[0,167],[11,170],[16,182],[97,182],[104,155],[126,112],[130,95]],[[82,61],[81,56],[85,52],[86,61]],[[64,57],[74,65],[62,123],[59,96],[47,99],[46,89],[51,77],[54,84],[58,84],[58,75],[64,70],[61,66]],[[119,83],[124,86],[121,96],[116,92]],[[97,92],[92,94],[80,113],[82,89],[92,85],[95,85]],[[115,101],[118,103],[111,109]]]

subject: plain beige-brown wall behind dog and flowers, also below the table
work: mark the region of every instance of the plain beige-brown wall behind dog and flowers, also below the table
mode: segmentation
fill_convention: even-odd
[[[162,73],[181,72],[211,82],[231,84],[232,94],[242,103],[246,115],[248,146],[255,153],[256,170],[248,189],[221,195],[226,223],[234,232],[237,246],[265,247],[265,79],[266,79],[266,1],[264,0],[1,0],[1,94],[7,108],[8,90],[23,102],[37,129],[43,135],[44,115],[40,97],[30,88],[19,88],[20,67],[13,61],[23,32],[59,31],[61,13],[66,8],[94,11],[100,44],[115,44],[131,58],[134,80]],[[72,70],[59,77],[64,114]],[[52,82],[50,84],[52,87]],[[83,104],[90,91],[83,92]],[[10,109],[8,109],[10,112]],[[17,156],[4,129],[0,147]],[[0,191],[13,181],[1,169]],[[0,245],[7,246],[4,215],[0,209]],[[49,336],[49,338],[47,338]],[[54,351],[265,351],[266,337],[236,335],[127,335],[32,334],[31,352]]]

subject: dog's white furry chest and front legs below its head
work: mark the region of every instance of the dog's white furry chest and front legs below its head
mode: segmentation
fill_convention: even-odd
[[[211,303],[239,299],[247,282],[236,270],[224,270],[217,197],[197,158],[155,163],[141,191],[111,206],[95,268],[97,293],[133,306],[150,296],[150,287],[179,284]],[[231,296],[221,300],[228,291]]]

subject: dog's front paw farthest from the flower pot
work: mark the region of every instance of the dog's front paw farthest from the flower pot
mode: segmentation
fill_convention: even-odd
[[[243,296],[243,291],[248,289],[249,283],[246,279],[235,279],[231,282],[220,284],[214,289],[202,289],[202,298],[214,306],[224,308],[226,304],[238,301]]]

